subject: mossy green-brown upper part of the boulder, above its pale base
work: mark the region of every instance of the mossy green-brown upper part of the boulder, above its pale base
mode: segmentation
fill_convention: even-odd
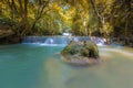
[[[84,58],[99,58],[99,50],[95,43],[91,41],[70,42],[61,54],[66,59],[84,59]]]

